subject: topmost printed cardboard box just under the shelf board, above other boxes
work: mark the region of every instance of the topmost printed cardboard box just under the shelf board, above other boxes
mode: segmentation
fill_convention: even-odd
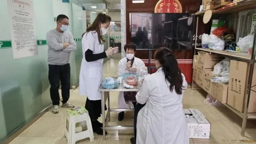
[[[212,71],[214,65],[223,59],[223,57],[218,55],[213,55],[204,51],[198,51],[198,61],[196,67],[203,71]]]

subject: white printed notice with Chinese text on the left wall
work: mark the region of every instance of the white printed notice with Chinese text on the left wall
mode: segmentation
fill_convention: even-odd
[[[33,3],[7,0],[14,59],[38,55]]]

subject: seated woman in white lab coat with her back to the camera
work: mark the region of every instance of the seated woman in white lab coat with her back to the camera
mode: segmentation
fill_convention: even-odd
[[[137,117],[136,144],[189,144],[189,133],[183,112],[185,76],[170,49],[156,51],[157,72],[145,77],[136,95],[145,104]]]

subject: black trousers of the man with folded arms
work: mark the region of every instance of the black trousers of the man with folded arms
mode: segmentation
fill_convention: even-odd
[[[60,105],[60,83],[62,85],[62,103],[67,103],[70,90],[70,65],[49,65],[48,79],[51,85],[52,104]]]

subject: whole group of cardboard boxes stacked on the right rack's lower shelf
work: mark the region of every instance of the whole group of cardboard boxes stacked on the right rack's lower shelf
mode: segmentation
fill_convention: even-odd
[[[250,65],[246,62],[231,60],[229,83],[213,83],[210,81],[211,77],[214,76],[212,74],[213,67],[222,59],[224,58],[218,55],[198,51],[198,55],[194,55],[192,79],[220,103],[227,104],[230,107],[243,112]],[[256,71],[256,65],[254,66],[254,71]],[[253,75],[252,78],[248,112],[256,112],[255,75]]]

